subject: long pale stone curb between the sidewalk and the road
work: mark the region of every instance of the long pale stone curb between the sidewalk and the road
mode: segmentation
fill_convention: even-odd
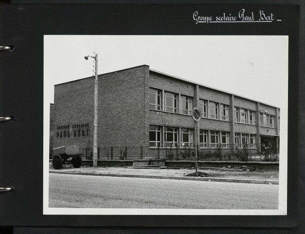
[[[252,183],[252,184],[279,184],[279,181],[276,180],[260,180],[260,179],[234,179],[234,178],[186,177],[186,176],[149,176],[149,175],[97,173],[97,172],[62,172],[62,171],[49,171],[49,173],[90,175],[90,176],[119,176],[119,177],[155,178],[155,179],[200,180],[200,181],[218,181],[218,182],[235,182],[235,183]]]

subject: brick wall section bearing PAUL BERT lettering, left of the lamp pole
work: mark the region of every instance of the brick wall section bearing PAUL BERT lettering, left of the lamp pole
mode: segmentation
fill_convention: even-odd
[[[54,87],[54,148],[93,145],[94,77]],[[89,124],[89,125],[88,125]]]

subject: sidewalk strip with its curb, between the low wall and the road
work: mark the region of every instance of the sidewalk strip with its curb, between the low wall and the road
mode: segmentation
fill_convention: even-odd
[[[236,169],[199,169],[198,172],[205,172],[209,177],[189,177],[185,176],[194,173],[195,169],[135,169],[124,167],[81,167],[73,168],[69,165],[60,170],[54,170],[50,164],[50,173],[77,174],[92,176],[125,176],[163,179],[183,179],[183,180],[203,180],[203,181],[223,181],[242,183],[263,183],[278,184],[278,171],[241,171]]]

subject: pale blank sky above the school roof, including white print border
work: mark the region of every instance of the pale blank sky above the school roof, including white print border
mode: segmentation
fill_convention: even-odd
[[[139,65],[258,100],[287,104],[287,36],[45,35],[44,80],[54,84]],[[284,103],[283,103],[284,101]],[[282,108],[281,108],[282,109]]]

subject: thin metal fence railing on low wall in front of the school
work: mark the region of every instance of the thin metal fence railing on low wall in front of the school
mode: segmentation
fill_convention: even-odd
[[[91,160],[92,148],[80,148],[83,159]],[[278,161],[278,144],[198,144],[197,160]],[[136,160],[157,158],[195,161],[195,145],[166,147],[98,147],[97,159]]]

